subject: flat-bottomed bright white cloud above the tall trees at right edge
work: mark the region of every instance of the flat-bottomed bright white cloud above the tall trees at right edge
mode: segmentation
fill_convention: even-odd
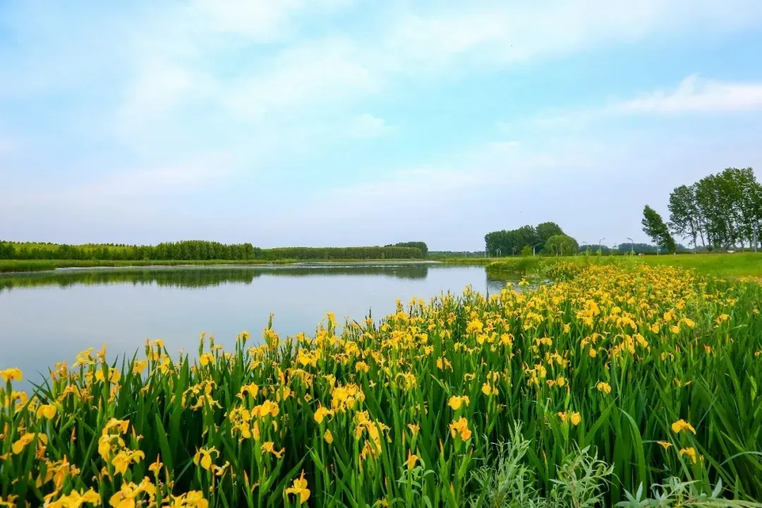
[[[610,113],[684,113],[762,109],[762,83],[702,80],[690,75],[674,91],[657,91],[609,107]]]

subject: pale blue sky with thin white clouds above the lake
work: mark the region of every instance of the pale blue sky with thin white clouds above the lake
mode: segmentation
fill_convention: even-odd
[[[760,0],[5,0],[0,238],[648,241],[762,179],[760,54]]]

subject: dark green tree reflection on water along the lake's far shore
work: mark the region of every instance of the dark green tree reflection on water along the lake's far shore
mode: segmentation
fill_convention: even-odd
[[[222,284],[251,284],[258,276],[391,276],[399,279],[425,279],[427,266],[364,267],[274,267],[274,268],[152,268],[114,270],[56,270],[46,273],[0,276],[0,292],[18,287],[91,286],[133,284],[179,288],[204,288]]]

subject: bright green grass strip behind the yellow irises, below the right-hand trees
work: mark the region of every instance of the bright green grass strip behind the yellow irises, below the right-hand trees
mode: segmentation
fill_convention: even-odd
[[[491,273],[517,273],[525,275],[547,270],[557,263],[580,266],[616,264],[626,267],[638,265],[671,266],[694,269],[699,273],[721,277],[762,277],[762,254],[680,254],[662,256],[574,256],[574,257],[506,257],[492,260],[487,270]]]

